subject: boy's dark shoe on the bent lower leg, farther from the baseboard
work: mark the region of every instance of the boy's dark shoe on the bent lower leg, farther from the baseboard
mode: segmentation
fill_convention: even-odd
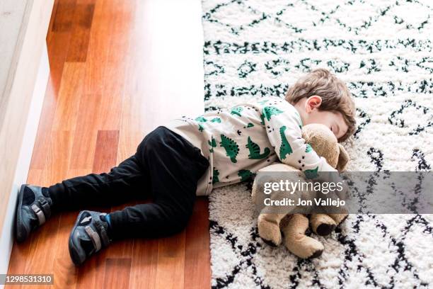
[[[69,254],[75,265],[81,265],[111,243],[105,212],[81,211],[69,237]]]

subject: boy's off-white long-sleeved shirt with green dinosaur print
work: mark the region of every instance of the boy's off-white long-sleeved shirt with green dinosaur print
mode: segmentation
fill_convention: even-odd
[[[209,160],[209,171],[197,185],[199,196],[245,181],[276,160],[304,171],[308,178],[316,177],[318,171],[335,171],[305,143],[301,127],[296,108],[278,97],[209,111],[195,119],[183,117],[166,125]]]

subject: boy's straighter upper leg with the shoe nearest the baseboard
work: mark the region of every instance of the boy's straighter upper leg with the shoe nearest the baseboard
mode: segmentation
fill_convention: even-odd
[[[134,155],[108,173],[79,176],[49,188],[23,185],[18,193],[16,239],[18,242],[27,239],[31,231],[45,223],[52,210],[114,205],[143,198],[150,188],[147,180]]]

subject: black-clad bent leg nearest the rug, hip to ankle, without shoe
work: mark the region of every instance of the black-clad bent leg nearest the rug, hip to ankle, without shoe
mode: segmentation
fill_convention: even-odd
[[[200,149],[166,128],[158,128],[137,149],[149,171],[154,203],[110,213],[112,237],[160,237],[180,232],[194,207],[197,183],[209,167]]]

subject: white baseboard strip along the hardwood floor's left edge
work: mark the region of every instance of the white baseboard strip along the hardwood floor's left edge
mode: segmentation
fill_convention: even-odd
[[[37,125],[39,124],[42,103],[44,101],[45,91],[47,89],[48,78],[50,77],[50,64],[48,62],[47,45],[44,45],[42,50],[42,57],[40,59],[39,69],[37,70],[35,89],[33,90],[28,119],[27,123],[25,124],[20,157],[16,166],[8,207],[6,208],[6,217],[4,220],[3,231],[0,235],[0,274],[6,274],[8,271],[14,238],[13,222],[15,220],[18,189],[22,183],[27,181],[30,160],[32,159],[33,147],[35,145]],[[4,285],[0,285],[0,289],[3,287]]]

